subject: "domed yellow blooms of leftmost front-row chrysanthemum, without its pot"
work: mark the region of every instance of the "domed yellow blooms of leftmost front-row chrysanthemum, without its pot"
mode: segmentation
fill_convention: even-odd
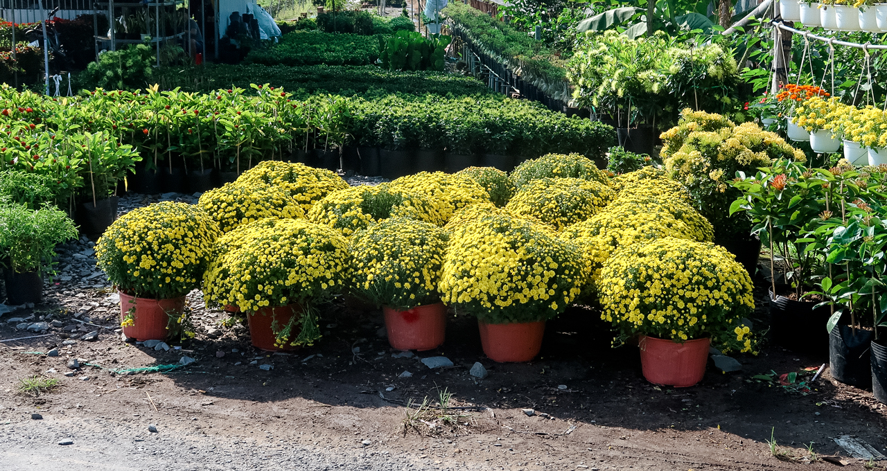
[[[98,268],[128,294],[177,298],[200,287],[220,235],[196,206],[165,201],[133,209],[98,239]]]

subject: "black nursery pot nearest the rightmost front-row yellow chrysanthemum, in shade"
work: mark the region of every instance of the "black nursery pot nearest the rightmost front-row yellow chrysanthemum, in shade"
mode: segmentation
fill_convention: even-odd
[[[819,302],[795,301],[785,296],[773,298],[770,292],[770,338],[786,349],[798,353],[825,356],[831,317],[828,306],[814,309]]]

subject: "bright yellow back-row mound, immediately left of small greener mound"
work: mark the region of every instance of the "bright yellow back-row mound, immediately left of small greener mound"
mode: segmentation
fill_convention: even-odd
[[[469,177],[443,172],[420,172],[400,177],[391,182],[392,190],[400,190],[428,197],[441,220],[446,224],[452,214],[469,204],[490,202],[490,193]]]

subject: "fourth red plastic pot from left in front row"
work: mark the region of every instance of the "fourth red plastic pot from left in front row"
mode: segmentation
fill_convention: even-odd
[[[542,335],[546,333],[544,320],[510,324],[487,324],[479,320],[477,326],[481,330],[483,353],[499,363],[532,360],[542,349]]]

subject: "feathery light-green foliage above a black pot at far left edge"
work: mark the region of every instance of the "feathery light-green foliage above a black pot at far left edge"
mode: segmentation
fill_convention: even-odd
[[[51,272],[55,247],[76,238],[74,221],[57,208],[0,205],[0,263],[12,271]]]

